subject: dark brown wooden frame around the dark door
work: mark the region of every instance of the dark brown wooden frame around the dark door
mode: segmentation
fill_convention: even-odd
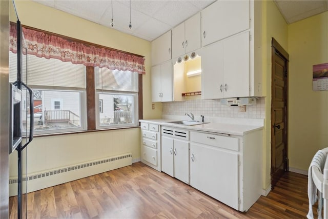
[[[284,134],[285,134],[285,157],[284,157],[284,172],[288,172],[289,171],[289,156],[288,156],[288,84],[289,84],[289,54],[288,52],[286,52],[283,47],[276,41],[276,39],[274,37],[272,37],[272,41],[271,41],[271,109],[270,109],[270,119],[271,119],[271,126],[270,126],[270,133],[271,133],[271,168],[270,168],[270,176],[271,176],[271,186],[273,187],[272,181],[272,173],[273,173],[273,153],[272,153],[272,127],[274,126],[273,121],[272,121],[272,110],[273,110],[273,102],[272,102],[272,92],[274,91],[273,88],[273,83],[272,80],[273,78],[273,72],[275,71],[275,54],[279,55],[282,59],[285,60],[286,62],[286,76],[285,76],[285,92],[284,92],[284,97],[285,97],[285,116],[284,116]]]

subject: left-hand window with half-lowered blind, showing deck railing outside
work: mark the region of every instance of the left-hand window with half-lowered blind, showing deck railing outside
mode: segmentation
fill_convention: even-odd
[[[11,53],[10,63],[16,58]],[[35,135],[86,130],[85,66],[34,55],[27,56],[27,63],[23,81],[33,90],[34,106],[29,109],[28,105],[25,114],[23,111],[23,127],[24,118],[29,117],[26,114],[33,110]],[[10,66],[11,81],[15,81],[15,69]],[[22,101],[26,103],[24,91]]]

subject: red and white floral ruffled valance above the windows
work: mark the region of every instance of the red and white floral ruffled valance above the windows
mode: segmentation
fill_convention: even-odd
[[[111,70],[145,74],[145,58],[108,48],[76,42],[43,31],[22,27],[28,54],[56,58],[85,66],[107,67]],[[16,24],[10,24],[10,51],[17,52]]]

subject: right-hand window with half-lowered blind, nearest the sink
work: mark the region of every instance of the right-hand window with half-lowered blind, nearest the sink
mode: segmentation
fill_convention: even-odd
[[[96,67],[95,81],[97,129],[137,126],[138,74]]]

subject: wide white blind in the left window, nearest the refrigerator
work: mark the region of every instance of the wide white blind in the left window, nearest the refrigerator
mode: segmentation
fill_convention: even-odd
[[[9,58],[10,78],[16,81],[17,54],[11,53]],[[24,59],[26,56],[23,58],[23,72],[26,72]],[[86,88],[86,67],[84,65],[62,62],[54,58],[40,58],[35,55],[28,55],[27,63],[27,84],[29,86]]]

